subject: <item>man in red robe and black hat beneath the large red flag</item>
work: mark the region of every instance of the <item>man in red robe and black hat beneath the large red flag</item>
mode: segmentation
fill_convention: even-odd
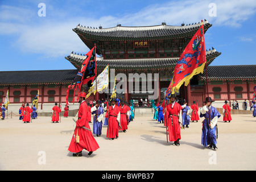
[[[166,110],[168,111],[169,117],[167,121],[168,134],[170,142],[174,141],[174,145],[180,146],[179,140],[180,135],[180,125],[182,126],[182,107],[179,103],[175,102],[175,94],[171,94],[171,103],[167,105]]]

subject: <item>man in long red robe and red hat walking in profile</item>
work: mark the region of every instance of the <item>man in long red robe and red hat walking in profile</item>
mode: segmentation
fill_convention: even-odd
[[[69,144],[68,150],[73,153],[73,156],[82,156],[82,150],[85,149],[89,151],[88,155],[91,155],[93,151],[98,148],[98,143],[93,137],[92,131],[82,128],[82,126],[90,129],[88,122],[88,107],[85,102],[86,94],[85,92],[79,93],[79,102],[81,102],[79,107],[78,119],[76,121],[76,128]]]

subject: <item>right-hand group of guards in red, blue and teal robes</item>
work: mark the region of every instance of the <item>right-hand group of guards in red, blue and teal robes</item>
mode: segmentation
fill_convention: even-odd
[[[199,107],[196,104],[196,101],[193,101],[191,108],[187,106],[185,100],[178,102],[175,94],[171,94],[170,98],[166,98],[166,101],[163,103],[160,102],[158,106],[154,105],[152,102],[152,107],[155,109],[154,119],[159,123],[164,123],[166,126],[169,140],[174,142],[176,146],[180,146],[179,140],[181,139],[180,129],[184,127],[189,127],[189,122],[196,121],[198,122],[200,118],[204,117],[203,127],[202,127],[202,137],[201,144],[205,147],[214,148],[217,150],[217,120],[221,117],[221,114],[218,110],[212,106],[212,98],[207,97],[204,101],[205,105],[200,108],[200,115],[198,114]],[[252,106],[254,109],[253,116],[256,115],[256,104]],[[222,115],[224,122],[232,121],[230,114],[230,106],[228,101],[225,101],[225,104],[222,106]],[[199,118],[200,117],[200,118]]]

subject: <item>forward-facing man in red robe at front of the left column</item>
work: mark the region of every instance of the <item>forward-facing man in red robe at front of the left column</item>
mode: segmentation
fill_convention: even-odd
[[[111,106],[107,109],[109,111],[109,121],[108,121],[108,130],[106,137],[113,140],[114,138],[118,138],[118,126],[120,121],[120,109],[117,105],[115,105],[115,98],[111,100]]]

